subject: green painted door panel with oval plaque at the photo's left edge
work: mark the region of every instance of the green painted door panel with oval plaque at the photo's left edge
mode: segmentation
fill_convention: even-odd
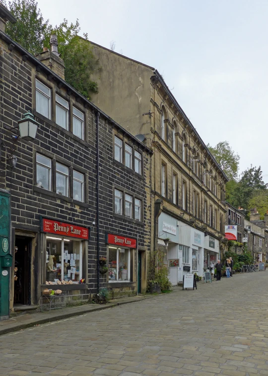
[[[6,255],[10,253],[9,194],[0,192],[0,320],[9,317],[10,266]]]

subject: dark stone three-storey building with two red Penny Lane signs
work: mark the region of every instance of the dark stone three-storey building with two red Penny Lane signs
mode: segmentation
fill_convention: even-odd
[[[0,203],[6,209],[0,284],[10,279],[10,309],[38,307],[42,290],[55,282],[62,305],[86,301],[98,287],[114,295],[144,291],[151,151],[64,81],[57,41],[49,59],[48,52],[33,57],[5,34],[6,20],[14,21],[0,4]],[[56,73],[45,65],[51,60]],[[13,129],[27,111],[38,123],[32,142]],[[4,266],[2,238],[11,268]],[[102,256],[107,265],[97,262]],[[2,318],[9,314],[7,298],[0,298]]]

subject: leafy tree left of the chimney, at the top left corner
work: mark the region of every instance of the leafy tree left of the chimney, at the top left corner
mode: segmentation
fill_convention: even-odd
[[[7,6],[5,0],[0,2]],[[48,19],[44,20],[37,1],[11,0],[8,1],[7,7],[17,22],[14,24],[7,22],[6,33],[31,54],[40,53],[43,49],[43,41],[52,26]]]

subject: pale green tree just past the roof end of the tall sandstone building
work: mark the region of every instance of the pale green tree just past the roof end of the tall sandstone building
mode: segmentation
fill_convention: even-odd
[[[227,141],[219,142],[214,148],[207,144],[207,148],[223,170],[227,178],[236,180],[238,174],[239,160],[238,154],[232,150]]]

